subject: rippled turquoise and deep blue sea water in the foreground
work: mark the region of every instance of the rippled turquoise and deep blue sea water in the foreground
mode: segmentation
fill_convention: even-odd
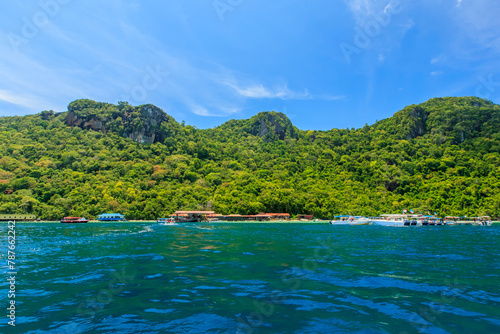
[[[500,226],[24,223],[16,236],[16,326],[2,279],[2,333],[500,332]]]

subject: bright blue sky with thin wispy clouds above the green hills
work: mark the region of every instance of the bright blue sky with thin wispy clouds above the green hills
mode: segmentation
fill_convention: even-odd
[[[498,0],[4,1],[0,115],[79,98],[210,128],[280,111],[362,127],[433,97],[500,102]]]

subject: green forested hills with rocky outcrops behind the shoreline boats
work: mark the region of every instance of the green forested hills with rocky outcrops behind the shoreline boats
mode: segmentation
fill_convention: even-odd
[[[499,217],[499,129],[500,106],[475,97],[330,131],[301,131],[276,112],[196,129],[153,105],[77,100],[0,118],[0,213]]]

